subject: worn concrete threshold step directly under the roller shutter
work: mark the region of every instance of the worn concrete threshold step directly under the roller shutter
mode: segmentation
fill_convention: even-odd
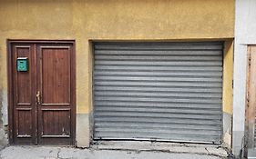
[[[119,151],[159,151],[176,154],[207,154],[220,158],[229,155],[220,144],[178,144],[148,141],[97,141],[91,145],[92,149]]]

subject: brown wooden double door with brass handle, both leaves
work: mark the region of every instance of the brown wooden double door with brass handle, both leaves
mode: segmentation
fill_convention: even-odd
[[[74,42],[8,45],[11,144],[74,144]],[[27,71],[17,69],[20,58],[27,58]]]

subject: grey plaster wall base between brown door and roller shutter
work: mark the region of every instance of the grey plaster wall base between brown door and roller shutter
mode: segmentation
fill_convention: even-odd
[[[89,115],[77,114],[77,147],[89,147],[90,145],[90,128]]]

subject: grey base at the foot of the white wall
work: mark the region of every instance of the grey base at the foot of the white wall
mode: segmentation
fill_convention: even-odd
[[[239,156],[244,145],[244,131],[233,131],[232,133],[232,154]]]

